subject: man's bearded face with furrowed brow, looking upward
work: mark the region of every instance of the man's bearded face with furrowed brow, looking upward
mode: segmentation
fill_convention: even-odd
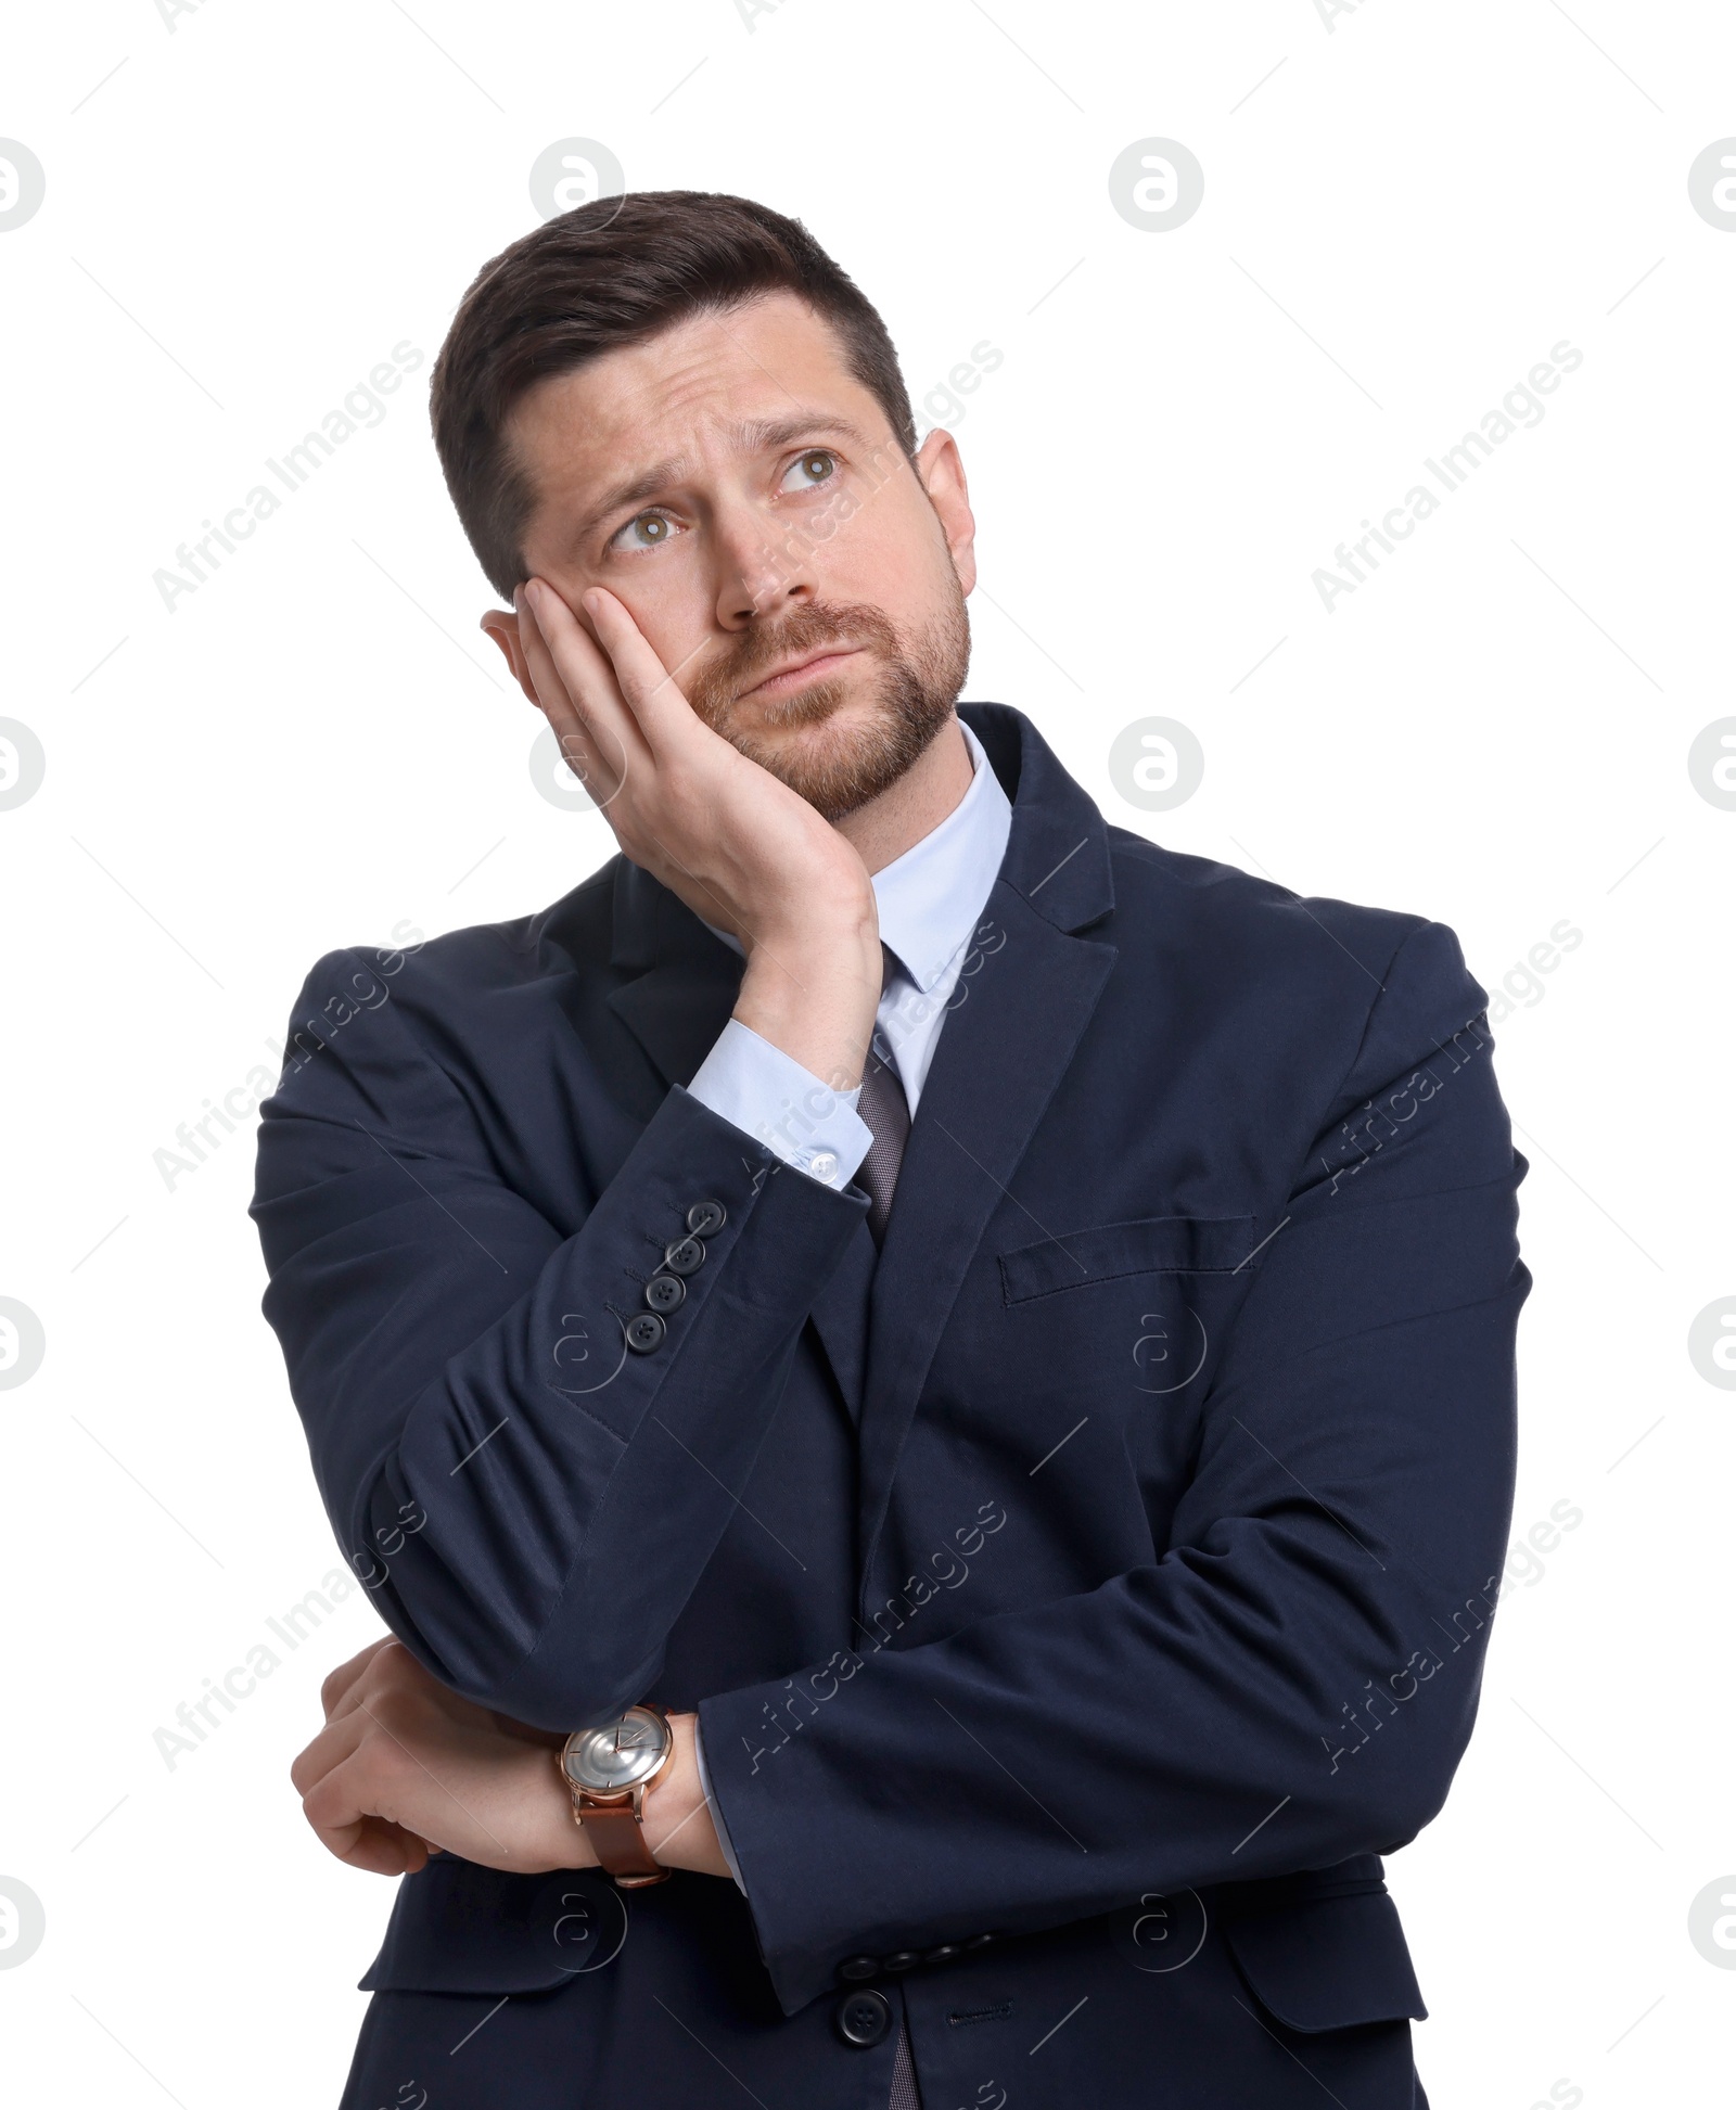
[[[698,715],[827,819],[877,798],[964,686],[958,449],[918,468],[831,327],[772,293],[525,395],[525,570],[624,601]],[[584,622],[580,612],[580,622]]]

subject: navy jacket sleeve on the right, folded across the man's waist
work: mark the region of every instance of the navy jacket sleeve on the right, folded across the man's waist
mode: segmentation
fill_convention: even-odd
[[[702,1703],[785,2011],[852,1954],[1331,1867],[1441,1808],[1500,1593],[1529,1287],[1483,1006],[1451,933],[1413,931],[1150,1566]]]

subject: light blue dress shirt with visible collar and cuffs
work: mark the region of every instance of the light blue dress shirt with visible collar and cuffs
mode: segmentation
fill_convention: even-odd
[[[896,962],[880,998],[873,1040],[882,1059],[896,1068],[911,1116],[960,979],[975,973],[972,958],[979,952],[998,950],[994,933],[983,931],[981,922],[1012,829],[1012,806],[981,741],[962,720],[958,730],[970,749],[968,791],[922,842],[873,874],[880,939]],[[742,950],[728,931],[715,935],[736,952]],[[831,1091],[812,1070],[740,1019],[730,1019],[717,1036],[688,1091],[713,1114],[768,1144],[785,1165],[831,1188],[854,1179],[873,1139],[856,1112],[861,1085],[854,1091]],[[705,1741],[698,1734],[694,1751],[717,1844],[738,1888],[747,1891],[724,1829],[724,1812],[711,1794]]]

